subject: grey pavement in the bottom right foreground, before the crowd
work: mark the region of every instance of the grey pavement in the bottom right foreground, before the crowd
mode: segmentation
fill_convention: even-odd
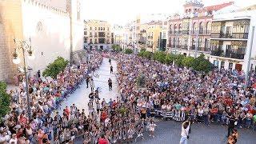
[[[156,122],[155,137],[150,138],[148,133],[145,139],[139,140],[139,144],[178,144],[182,129],[182,122],[160,121]],[[205,126],[203,124],[192,124],[189,144],[226,144],[227,127],[218,124]],[[256,131],[238,129],[238,144],[256,143]]]

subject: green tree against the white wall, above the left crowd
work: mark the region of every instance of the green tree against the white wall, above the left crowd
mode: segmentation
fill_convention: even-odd
[[[57,75],[61,71],[65,70],[68,63],[69,61],[67,61],[65,58],[58,57],[57,59],[54,60],[54,62],[46,66],[46,70],[42,72],[42,75],[44,77],[57,78]]]

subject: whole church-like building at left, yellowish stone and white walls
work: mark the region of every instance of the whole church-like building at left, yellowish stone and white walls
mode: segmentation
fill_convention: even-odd
[[[44,70],[58,56],[70,60],[72,51],[82,50],[81,27],[73,30],[73,41],[70,39],[70,14],[79,14],[78,3],[80,1],[58,0],[8,0],[0,1],[0,49],[4,52],[0,55],[0,80],[13,82],[14,74],[18,74],[18,66],[12,60],[16,42],[26,41],[32,47],[34,60],[26,58],[27,65],[34,74],[38,70]],[[56,5],[58,3],[58,5]],[[73,12],[68,11],[72,6]],[[79,25],[78,19],[73,19],[73,25]],[[82,28],[83,29],[83,28]],[[75,36],[74,36],[75,35]],[[31,43],[30,43],[31,39]],[[18,57],[22,59],[22,50],[18,50]]]

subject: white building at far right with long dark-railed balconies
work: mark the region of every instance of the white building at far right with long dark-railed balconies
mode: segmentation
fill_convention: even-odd
[[[244,71],[246,74],[247,70],[255,69],[255,14],[256,10],[242,9],[214,15],[210,34],[210,62],[215,67]]]

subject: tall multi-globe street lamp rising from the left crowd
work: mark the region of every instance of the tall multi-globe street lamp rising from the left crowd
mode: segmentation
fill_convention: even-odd
[[[28,76],[27,76],[27,66],[26,66],[26,53],[28,54],[29,59],[34,59],[34,54],[33,50],[31,48],[31,39],[30,43],[27,43],[26,41],[19,41],[18,43],[16,42],[16,39],[14,39],[14,54],[13,54],[13,62],[14,64],[18,65],[21,60],[18,58],[18,50],[22,50],[22,58],[23,58],[23,69],[24,69],[24,74],[25,74],[25,79],[26,79],[26,102],[27,102],[27,109],[28,109],[28,116],[29,119],[31,119],[31,108],[30,108],[30,94],[29,94],[29,82],[28,82]]]

